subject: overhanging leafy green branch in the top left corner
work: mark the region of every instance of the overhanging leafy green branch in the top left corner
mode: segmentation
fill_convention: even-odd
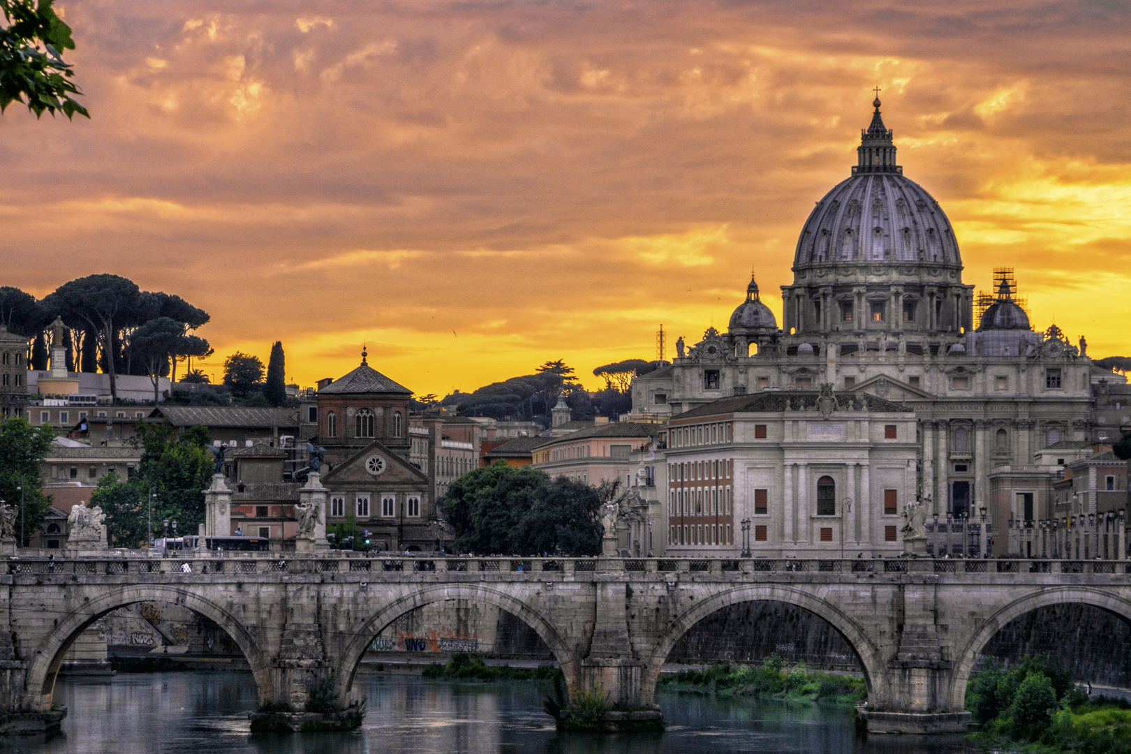
[[[62,51],[74,50],[71,28],[51,8],[52,0],[0,0],[9,26],[0,29],[0,112],[24,102],[36,118],[43,111],[89,118],[71,95],[81,94],[70,80]]]

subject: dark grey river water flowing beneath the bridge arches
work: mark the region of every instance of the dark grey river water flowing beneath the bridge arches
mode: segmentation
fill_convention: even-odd
[[[249,674],[122,674],[66,681],[55,699],[69,708],[62,735],[0,739],[2,752],[69,754],[973,754],[947,739],[855,733],[848,710],[662,694],[668,728],[656,736],[559,735],[542,711],[549,685],[452,684],[407,676],[359,676],[369,714],[352,734],[251,736],[256,707]]]

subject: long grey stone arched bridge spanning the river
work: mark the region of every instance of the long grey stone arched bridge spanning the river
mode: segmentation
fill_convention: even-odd
[[[545,641],[571,696],[604,691],[631,707],[654,704],[664,660],[698,621],[739,603],[786,603],[815,613],[854,648],[870,729],[904,731],[964,728],[979,651],[1029,610],[1076,603],[1131,621],[1129,565],[1112,561],[390,561],[347,553],[5,560],[0,704],[9,717],[50,711],[75,639],[106,613],[140,601],[182,605],[217,623],[247,657],[260,700],[296,707],[326,677],[340,700],[361,699],[354,675],[372,639],[432,603],[475,600],[511,613]]]

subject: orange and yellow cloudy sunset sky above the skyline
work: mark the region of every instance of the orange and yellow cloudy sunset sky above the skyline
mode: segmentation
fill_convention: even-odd
[[[1008,6],[1008,7],[1005,7]],[[417,393],[782,322],[882,89],[964,279],[1131,356],[1131,3],[67,0],[89,121],[0,116],[0,284],[93,272]],[[233,12],[234,11],[234,12]]]

